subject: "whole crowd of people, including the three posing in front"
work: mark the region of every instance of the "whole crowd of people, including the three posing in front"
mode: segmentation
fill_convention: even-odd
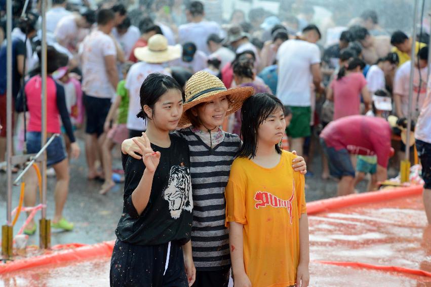
[[[73,229],[62,211],[69,159],[81,152],[76,131],[85,131],[87,179],[102,182],[100,194],[119,180],[111,152],[121,145],[124,212],[111,285],[227,286],[232,270],[238,286],[306,286],[305,177],[317,176],[317,150],[322,180],[337,180],[337,194],[347,195],[367,174],[367,190],[376,190],[389,168],[399,169],[406,145],[412,155],[415,146],[431,223],[429,35],[422,29],[412,43],[407,31],[380,26],[373,10],[344,22],[334,13],[323,29],[312,22],[312,6],[279,15],[235,10],[221,23],[220,9],[206,1],[82,5],[53,0],[46,13],[48,138],[63,135],[47,149],[57,177],[53,227]],[[25,19],[15,17],[10,39],[15,152],[41,149],[37,12],[29,6]],[[9,40],[1,16],[0,162]],[[416,142],[404,140],[409,114]],[[24,203],[34,206],[37,175],[31,170],[25,180]],[[31,222],[24,232],[35,230]],[[276,247],[254,248],[268,241]]]

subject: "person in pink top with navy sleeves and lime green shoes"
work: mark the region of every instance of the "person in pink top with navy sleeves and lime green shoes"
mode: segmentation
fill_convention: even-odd
[[[47,49],[48,56],[48,77],[47,77],[47,141],[54,134],[60,134],[60,117],[66,134],[71,142],[71,157],[77,158],[80,154],[80,148],[75,141],[70,122],[69,112],[66,107],[64,88],[56,83],[51,74],[59,68],[57,64],[58,52],[51,46]],[[41,59],[41,51],[38,52]],[[27,153],[37,153],[41,150],[41,130],[42,130],[42,77],[40,65],[33,70],[32,76],[24,87],[25,97],[27,99],[27,108],[29,113],[28,128],[26,133]],[[66,203],[67,193],[69,191],[69,162],[66,156],[64,144],[61,137],[56,137],[47,148],[47,166],[52,166],[55,170],[57,182],[54,190],[55,197],[55,214],[52,220],[52,227],[72,230],[73,223],[68,222],[63,216],[63,208]],[[27,207],[36,204],[36,187],[37,176],[33,169],[30,169],[25,176],[25,195],[24,204]],[[28,235],[34,234],[36,225],[31,221],[24,229]]]

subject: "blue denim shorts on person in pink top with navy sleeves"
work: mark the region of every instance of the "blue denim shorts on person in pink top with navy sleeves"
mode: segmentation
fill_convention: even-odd
[[[27,132],[27,153],[38,153],[41,150],[41,133]],[[49,138],[47,138],[48,142]],[[62,137],[56,137],[47,148],[47,166],[55,165],[66,158]]]

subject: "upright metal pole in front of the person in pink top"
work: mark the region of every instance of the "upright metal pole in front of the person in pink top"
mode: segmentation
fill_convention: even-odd
[[[41,30],[42,30],[42,129],[41,129],[41,147],[47,142],[47,19],[46,19],[47,2],[42,1],[41,7]],[[42,155],[42,204],[46,206],[47,204],[47,153],[46,151]],[[42,218],[46,218],[47,209],[46,207],[42,209]]]

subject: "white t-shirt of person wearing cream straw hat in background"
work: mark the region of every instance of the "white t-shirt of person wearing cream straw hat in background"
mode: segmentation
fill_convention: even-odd
[[[146,130],[145,121],[142,118],[137,118],[136,115],[141,110],[139,91],[141,90],[144,79],[151,73],[170,75],[163,65],[145,62],[134,64],[127,73],[125,87],[129,91],[129,112],[127,115],[127,128],[129,130]]]

